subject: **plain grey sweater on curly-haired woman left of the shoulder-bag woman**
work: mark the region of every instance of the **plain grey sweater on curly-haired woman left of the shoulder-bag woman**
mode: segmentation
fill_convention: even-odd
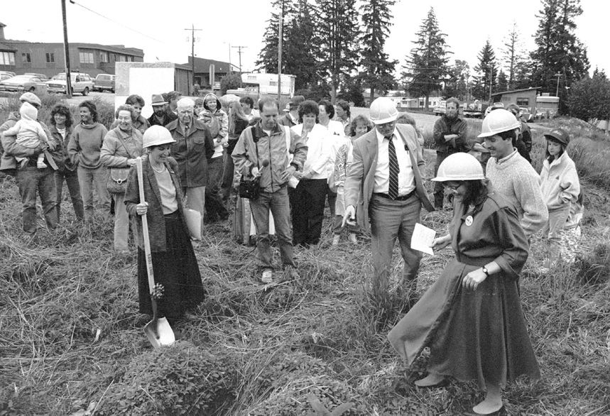
[[[78,124],[72,131],[67,154],[74,165],[87,169],[97,169],[102,166],[99,152],[102,150],[104,137],[108,133],[103,124]]]

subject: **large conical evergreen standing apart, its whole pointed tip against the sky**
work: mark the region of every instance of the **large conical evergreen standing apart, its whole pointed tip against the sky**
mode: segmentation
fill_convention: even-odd
[[[405,80],[410,80],[410,93],[425,97],[425,108],[428,109],[430,93],[441,89],[441,83],[448,75],[447,43],[445,33],[440,31],[434,9],[430,7],[426,18],[420,25],[407,66],[402,72]]]

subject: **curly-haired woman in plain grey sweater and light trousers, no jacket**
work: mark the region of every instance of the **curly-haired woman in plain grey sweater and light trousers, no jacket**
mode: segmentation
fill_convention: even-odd
[[[67,145],[67,154],[72,164],[77,166],[78,182],[82,203],[85,205],[85,220],[93,219],[93,188],[102,205],[104,220],[109,219],[110,194],[106,189],[108,168],[99,158],[104,137],[108,133],[103,124],[97,122],[97,107],[92,101],[84,101],[78,106],[80,123],[75,126]]]

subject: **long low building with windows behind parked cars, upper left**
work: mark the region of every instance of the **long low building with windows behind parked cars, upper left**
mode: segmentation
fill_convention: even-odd
[[[36,72],[53,77],[65,71],[63,43],[40,43],[4,38],[6,25],[0,23],[0,62],[13,62],[11,71],[17,74]],[[4,54],[6,50],[7,55]],[[10,55],[13,53],[13,55]],[[125,48],[124,45],[99,45],[97,43],[70,43],[70,70],[86,72],[92,77],[98,74],[114,74],[114,62],[143,62],[144,51]],[[4,65],[6,67],[6,65]],[[9,65],[11,66],[11,65]],[[0,65],[0,68],[2,65]]]

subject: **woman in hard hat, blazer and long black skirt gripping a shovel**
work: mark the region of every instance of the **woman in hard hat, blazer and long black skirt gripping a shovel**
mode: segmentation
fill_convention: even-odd
[[[129,172],[125,204],[136,230],[138,243],[138,295],[140,312],[153,314],[142,221],[148,221],[154,278],[163,287],[158,301],[158,316],[168,319],[184,317],[205,297],[195,251],[180,196],[180,180],[176,174],[178,163],[170,158],[171,133],[161,126],[148,128],[143,136],[142,158],[144,200],[139,195],[135,168]],[[146,217],[141,217],[146,214]]]

